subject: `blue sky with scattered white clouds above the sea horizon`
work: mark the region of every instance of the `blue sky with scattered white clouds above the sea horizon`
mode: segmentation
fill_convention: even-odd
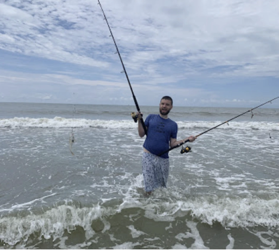
[[[140,106],[279,96],[278,0],[100,2]],[[134,105],[122,71],[97,0],[0,0],[0,102]]]

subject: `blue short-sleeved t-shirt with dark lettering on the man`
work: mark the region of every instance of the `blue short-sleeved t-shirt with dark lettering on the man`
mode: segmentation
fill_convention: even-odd
[[[153,155],[169,149],[171,138],[177,137],[177,123],[171,119],[164,119],[160,115],[150,114],[145,119],[147,126],[147,137],[143,147]],[[161,155],[162,158],[169,158],[169,152]]]

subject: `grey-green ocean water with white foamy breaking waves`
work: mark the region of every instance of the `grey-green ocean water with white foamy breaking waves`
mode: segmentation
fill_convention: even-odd
[[[278,249],[279,109],[266,106],[172,150],[167,188],[146,197],[134,106],[0,103],[0,248]],[[183,139],[247,110],[169,117]]]

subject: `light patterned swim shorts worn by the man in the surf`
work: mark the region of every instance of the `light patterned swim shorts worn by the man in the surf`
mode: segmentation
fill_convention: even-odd
[[[142,174],[146,192],[159,187],[166,187],[169,176],[169,158],[165,159],[143,152]]]

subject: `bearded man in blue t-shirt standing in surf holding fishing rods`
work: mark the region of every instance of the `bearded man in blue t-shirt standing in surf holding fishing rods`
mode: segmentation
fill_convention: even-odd
[[[147,137],[143,144],[142,173],[147,194],[151,194],[156,188],[166,187],[168,180],[169,153],[166,152],[160,157],[157,155],[187,139],[190,142],[196,139],[195,136],[190,136],[177,141],[177,123],[168,118],[168,114],[173,107],[172,104],[171,97],[162,97],[159,107],[160,114],[150,114],[145,119]],[[137,114],[140,119],[142,114]],[[138,122],[138,132],[140,137],[145,136],[141,122]]]

